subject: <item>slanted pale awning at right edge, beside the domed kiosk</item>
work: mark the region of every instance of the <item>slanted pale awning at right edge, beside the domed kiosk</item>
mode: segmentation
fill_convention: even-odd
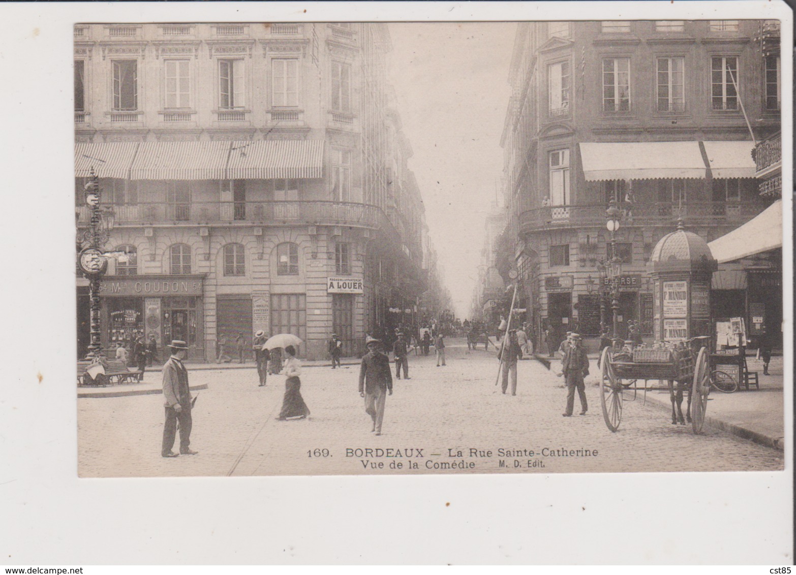
[[[732,262],[782,247],[782,200],[726,235],[708,243],[719,263]]]

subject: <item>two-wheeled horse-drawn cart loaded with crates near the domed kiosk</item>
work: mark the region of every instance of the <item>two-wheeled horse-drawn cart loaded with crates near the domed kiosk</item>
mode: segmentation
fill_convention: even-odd
[[[647,387],[649,380],[669,383],[672,400],[672,422],[685,425],[682,414],[683,391],[688,391],[686,417],[693,432],[701,433],[710,392],[710,369],[707,337],[696,337],[686,344],[669,348],[636,348],[634,350],[603,349],[600,357],[600,403],[603,418],[611,431],[622,422],[622,403],[632,390],[656,389]],[[644,387],[638,387],[643,381]]]

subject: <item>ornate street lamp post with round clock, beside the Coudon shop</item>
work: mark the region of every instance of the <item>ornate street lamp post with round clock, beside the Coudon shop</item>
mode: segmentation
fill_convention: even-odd
[[[85,185],[85,200],[91,210],[88,230],[78,236],[78,243],[82,249],[77,257],[80,271],[88,278],[88,291],[90,300],[90,336],[87,359],[99,360],[102,354],[102,340],[100,337],[100,282],[107,270],[107,256],[104,246],[111,236],[114,224],[112,212],[103,211],[100,207],[101,191],[100,177],[91,169],[88,183]]]

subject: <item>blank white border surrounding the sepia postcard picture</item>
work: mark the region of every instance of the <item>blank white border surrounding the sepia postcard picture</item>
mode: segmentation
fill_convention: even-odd
[[[2,13],[0,563],[793,562],[790,446],[786,471],[775,473],[78,480],[76,397],[65,375],[75,321],[72,23],[779,18],[789,22],[787,87],[784,3],[42,2],[4,4]],[[784,190],[793,188],[791,118],[786,98]],[[782,201],[792,213],[790,194]],[[789,218],[785,237],[792,318]],[[785,337],[792,350],[791,321]],[[790,439],[792,380],[785,389]]]

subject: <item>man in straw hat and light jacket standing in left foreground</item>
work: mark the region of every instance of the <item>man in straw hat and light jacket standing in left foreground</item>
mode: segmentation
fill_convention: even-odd
[[[171,448],[174,447],[174,437],[177,434],[177,422],[180,422],[180,454],[196,455],[198,452],[190,449],[191,443],[191,392],[188,387],[188,371],[182,360],[188,355],[188,344],[181,340],[172,340],[169,345],[171,357],[163,366],[163,405],[166,406],[166,424],[163,425],[163,444],[161,455],[163,457],[177,457]]]

